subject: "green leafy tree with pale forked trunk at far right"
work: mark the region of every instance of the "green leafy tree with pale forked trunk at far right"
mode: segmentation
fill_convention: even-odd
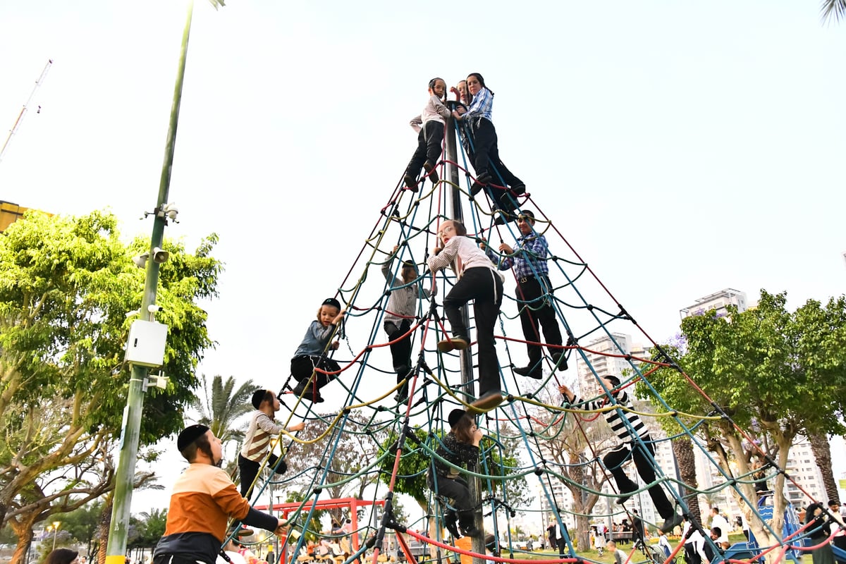
[[[682,321],[688,350],[678,364],[707,396],[677,370],[657,370],[649,379],[673,409],[726,415],[706,421],[698,432],[728,479],[740,479],[739,490],[753,503],[750,476],[759,446],[764,460],[785,468],[798,435],[843,432],[846,298],[832,298],[825,307],[809,300],[794,313],[785,304],[786,294],[761,290],[755,309],[739,313],[730,308],[728,316],[710,311]],[[750,431],[744,435],[735,424]],[[780,541],[784,483],[784,474],[778,473],[770,528],[765,530],[747,507],[758,539]]]

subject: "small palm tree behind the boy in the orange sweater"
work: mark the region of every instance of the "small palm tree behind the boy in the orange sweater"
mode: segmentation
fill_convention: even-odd
[[[191,402],[191,407],[200,413],[197,423],[209,427],[223,445],[227,441],[242,441],[244,430],[239,429],[236,422],[253,410],[250,397],[255,390],[255,383],[248,380],[235,390],[235,379],[232,376],[224,382],[221,375],[215,375],[211,379],[211,387],[206,375],[201,375],[200,381],[204,397],[195,396]]]

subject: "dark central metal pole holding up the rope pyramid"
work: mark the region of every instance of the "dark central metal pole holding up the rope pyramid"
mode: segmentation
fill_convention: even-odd
[[[452,111],[457,107],[458,102],[448,101],[447,105]],[[447,119],[447,177],[449,178],[450,191],[448,208],[452,219],[464,223],[464,210],[462,208],[461,195],[459,189],[459,167],[455,163],[459,162],[458,142],[455,133],[455,118],[450,116]],[[466,224],[465,224],[466,225]],[[456,275],[457,276],[457,275]],[[470,338],[470,315],[467,313],[467,306],[461,308],[461,315],[464,317],[464,326],[467,327],[467,338]],[[464,392],[470,395],[472,401],[476,397],[475,386],[473,385],[473,353],[470,348],[465,348],[461,351],[461,383],[464,384]],[[479,468],[479,461],[473,461],[467,464],[467,469],[470,472],[477,472]],[[467,485],[470,489],[470,499],[473,500],[473,507],[481,507],[481,484],[479,479],[473,476],[467,476]],[[484,523],[481,518],[481,511],[475,512],[475,526],[476,530],[484,531]],[[484,535],[483,535],[484,536]],[[485,553],[484,538],[476,537],[473,539],[473,551],[478,554]],[[485,564],[482,558],[474,558],[473,564]]]

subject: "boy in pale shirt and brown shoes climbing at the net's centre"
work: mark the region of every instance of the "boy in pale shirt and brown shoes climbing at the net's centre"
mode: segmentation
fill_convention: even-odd
[[[479,399],[474,403],[496,407],[503,396],[499,389],[499,360],[493,326],[503,303],[503,277],[494,269],[485,252],[467,238],[462,222],[443,222],[437,232],[441,247],[432,250],[428,264],[432,272],[450,266],[457,282],[443,298],[443,311],[452,327],[453,337],[437,343],[442,353],[464,350],[470,345],[461,307],[474,300],[473,312],[479,343]],[[498,399],[497,399],[498,398]]]

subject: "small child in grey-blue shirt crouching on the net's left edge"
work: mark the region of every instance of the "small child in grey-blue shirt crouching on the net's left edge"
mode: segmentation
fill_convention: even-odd
[[[337,299],[326,298],[323,300],[320,309],[317,310],[317,319],[311,321],[308,331],[305,331],[303,342],[299,343],[294,358],[291,359],[291,375],[294,376],[294,380],[299,382],[294,388],[295,396],[316,403],[323,401],[320,389],[326,386],[330,380],[334,380],[336,375],[316,372],[316,369],[326,372],[341,370],[337,362],[327,358],[326,353],[328,348],[338,350],[340,343],[335,341],[330,344],[330,341],[337,331],[338,323],[343,320],[343,315],[346,312],[346,309],[341,309],[341,304]],[[313,382],[311,375],[314,375]],[[306,386],[312,383],[313,386],[316,386],[316,389],[312,388],[313,393],[304,395]]]

